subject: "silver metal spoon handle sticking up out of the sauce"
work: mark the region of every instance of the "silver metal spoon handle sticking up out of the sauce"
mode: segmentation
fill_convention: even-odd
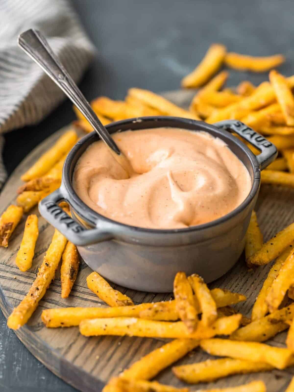
[[[53,53],[45,37],[40,31],[29,29],[18,37],[18,45],[36,62],[45,73],[55,82],[100,135],[102,140],[120,155],[120,149],[102,125],[89,102],[67,73],[64,66]]]

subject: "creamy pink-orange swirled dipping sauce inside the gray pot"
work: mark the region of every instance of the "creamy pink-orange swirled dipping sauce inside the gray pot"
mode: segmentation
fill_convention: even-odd
[[[228,214],[251,189],[249,172],[207,132],[156,128],[113,134],[131,177],[103,142],[78,160],[73,185],[91,209],[132,226],[175,229]]]

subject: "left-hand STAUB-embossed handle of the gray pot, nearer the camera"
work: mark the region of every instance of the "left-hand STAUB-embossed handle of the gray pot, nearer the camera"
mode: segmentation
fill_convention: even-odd
[[[113,236],[101,228],[86,229],[73,220],[58,203],[65,198],[60,188],[46,196],[39,203],[40,214],[61,232],[74,245],[85,246],[96,242],[110,240]]]

